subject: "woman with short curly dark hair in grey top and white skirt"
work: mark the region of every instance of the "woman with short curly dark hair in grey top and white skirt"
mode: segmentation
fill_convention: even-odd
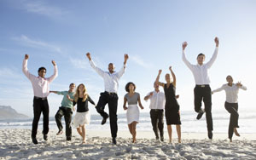
[[[128,92],[124,97],[124,110],[127,110],[126,117],[128,128],[132,135],[132,143],[136,142],[136,125],[139,122],[140,111],[138,109],[137,103],[141,109],[143,105],[141,103],[140,94],[135,92],[136,85],[134,83],[127,83],[125,90]],[[128,102],[128,107],[126,107],[126,102]]]

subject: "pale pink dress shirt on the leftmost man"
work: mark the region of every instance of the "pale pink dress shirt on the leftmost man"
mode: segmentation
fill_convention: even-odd
[[[47,78],[43,78],[39,76],[36,77],[27,70],[27,60],[23,60],[22,71],[32,83],[34,96],[45,98],[49,95],[49,83],[51,83],[55,79],[55,77],[58,76],[57,66],[54,66],[54,68],[55,68],[55,71],[51,77],[47,77]]]

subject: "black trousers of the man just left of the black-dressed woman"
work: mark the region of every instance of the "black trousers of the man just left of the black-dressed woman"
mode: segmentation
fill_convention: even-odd
[[[150,118],[156,138],[164,137],[164,110],[150,110]]]

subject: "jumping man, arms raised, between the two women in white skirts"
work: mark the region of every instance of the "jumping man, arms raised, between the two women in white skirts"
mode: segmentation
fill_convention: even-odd
[[[122,66],[121,70],[118,72],[114,71],[113,63],[108,64],[108,71],[102,71],[102,69],[98,68],[94,61],[90,58],[90,53],[86,54],[88,60],[90,61],[90,66],[103,78],[105,92],[101,93],[98,104],[96,105],[96,111],[101,114],[103,117],[102,125],[106,123],[108,119],[108,113],[104,111],[105,106],[108,103],[108,111],[109,111],[109,121],[110,121],[110,129],[112,135],[112,142],[116,145],[116,136],[118,131],[117,125],[117,106],[118,106],[118,87],[119,87],[119,78],[123,76],[125,73],[126,61],[128,60],[128,54],[125,54],[124,66]]]

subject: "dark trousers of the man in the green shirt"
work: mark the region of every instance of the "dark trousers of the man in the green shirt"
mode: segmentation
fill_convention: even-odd
[[[71,119],[72,119],[73,111],[71,108],[61,106],[59,110],[55,114],[55,121],[57,123],[58,129],[62,130],[63,126],[61,123],[61,117],[64,116],[65,123],[66,123],[66,136],[71,137],[72,136],[72,128],[71,128]]]

